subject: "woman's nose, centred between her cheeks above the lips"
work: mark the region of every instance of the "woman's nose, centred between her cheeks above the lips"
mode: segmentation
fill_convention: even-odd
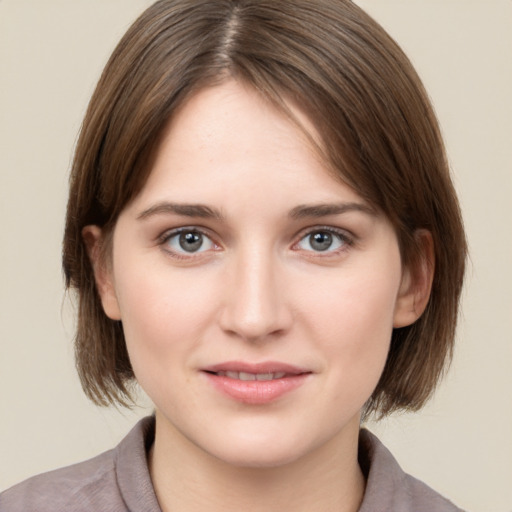
[[[262,342],[289,330],[292,311],[276,259],[253,248],[231,262],[220,312],[224,332],[247,341]]]

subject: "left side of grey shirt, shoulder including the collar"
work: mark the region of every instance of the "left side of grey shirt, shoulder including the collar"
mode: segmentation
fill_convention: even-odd
[[[113,450],[29,478],[0,494],[2,512],[158,511],[146,453],[154,418],[141,420]]]

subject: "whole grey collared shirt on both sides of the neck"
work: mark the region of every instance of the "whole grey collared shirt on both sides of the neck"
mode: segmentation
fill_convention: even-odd
[[[113,450],[32,477],[3,492],[0,511],[161,512],[147,465],[154,432],[154,417],[144,418]],[[367,478],[359,512],[461,512],[404,473],[384,445],[364,429],[359,462]]]

